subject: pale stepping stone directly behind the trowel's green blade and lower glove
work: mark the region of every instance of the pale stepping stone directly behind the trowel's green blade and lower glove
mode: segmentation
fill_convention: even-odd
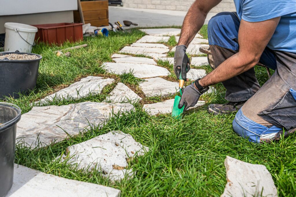
[[[153,103],[153,104],[145,104],[143,109],[147,111],[147,113],[151,116],[156,114],[169,114],[172,113],[173,105],[175,99],[166,100],[163,102]],[[189,107],[189,109],[196,108],[198,106],[202,106],[205,104],[205,101],[198,101],[197,104],[193,107]]]

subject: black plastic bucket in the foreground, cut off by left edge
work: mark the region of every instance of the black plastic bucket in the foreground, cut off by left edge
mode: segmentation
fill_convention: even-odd
[[[18,106],[0,102],[0,197],[5,196],[12,186],[15,136],[20,117]]]

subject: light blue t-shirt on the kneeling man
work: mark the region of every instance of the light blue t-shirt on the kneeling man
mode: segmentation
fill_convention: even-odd
[[[281,17],[267,47],[296,53],[296,0],[234,0],[239,19],[259,22]]]

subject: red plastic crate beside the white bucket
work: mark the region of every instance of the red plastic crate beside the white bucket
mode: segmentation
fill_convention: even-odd
[[[76,42],[83,40],[83,23],[53,23],[33,25],[38,28],[35,41],[49,44],[62,44],[69,40]]]

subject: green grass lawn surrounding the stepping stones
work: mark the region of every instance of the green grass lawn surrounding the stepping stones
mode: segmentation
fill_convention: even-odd
[[[204,26],[201,31],[205,38],[206,28]],[[138,29],[132,29],[126,34],[110,32],[108,38],[87,38],[81,43],[65,43],[62,47],[36,45],[33,53],[43,56],[36,89],[28,96],[21,95],[19,99],[7,98],[6,102],[17,104],[22,113],[26,113],[32,108],[32,101],[88,75],[114,78],[116,83],[123,82],[141,95],[138,85],[142,80],[133,77],[131,73],[110,75],[101,65],[106,61],[111,62],[113,53],[144,35]],[[69,58],[57,57],[52,52],[84,43],[88,47],[70,51]],[[172,37],[165,44],[173,46],[176,40]],[[159,61],[158,64],[173,71],[173,65],[168,62]],[[207,72],[211,70],[209,65],[203,68]],[[256,73],[262,85],[268,79],[266,70],[256,66]],[[168,80],[176,80],[175,75],[172,73]],[[116,83],[104,88],[100,95],[55,100],[46,105],[102,102]],[[253,144],[242,139],[232,130],[231,123],[235,114],[213,116],[207,113],[207,105],[226,102],[223,86],[217,84],[215,88],[215,93],[202,96],[201,99],[206,101],[204,106],[187,111],[181,120],[173,119],[169,114],[149,116],[142,111],[142,105],[163,98],[144,99],[133,104],[135,111],[123,116],[115,115],[101,129],[89,128],[84,134],[69,136],[69,139],[46,148],[30,150],[18,144],[15,162],[44,173],[117,188],[122,191],[122,196],[220,196],[226,184],[224,160],[228,155],[245,162],[265,165],[274,179],[279,196],[296,196],[296,135],[291,134],[269,144]],[[131,134],[137,142],[149,147],[147,154],[131,161],[129,168],[136,171],[133,178],[111,183],[97,170],[77,170],[75,166],[54,160],[64,154],[66,147],[112,130]]]

